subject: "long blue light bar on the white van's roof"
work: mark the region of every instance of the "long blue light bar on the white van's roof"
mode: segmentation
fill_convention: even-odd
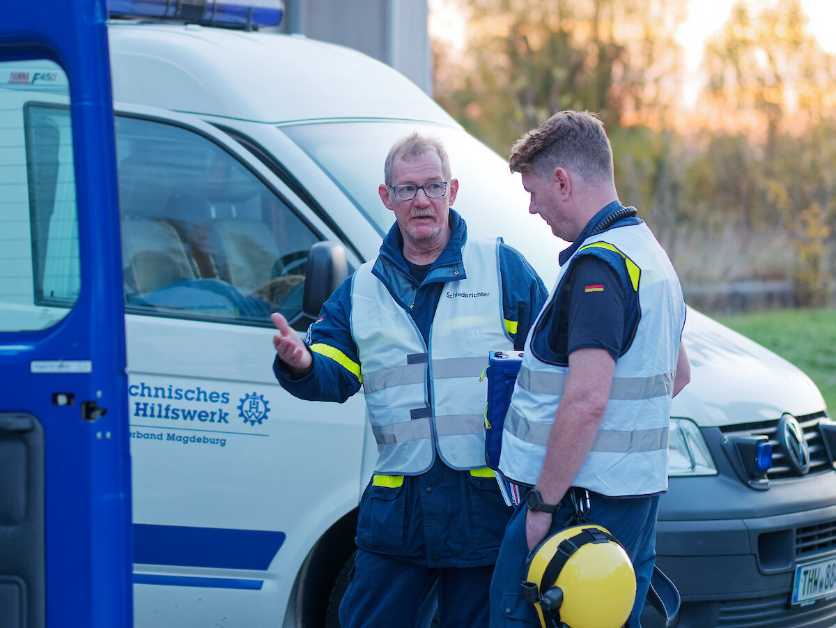
[[[151,18],[227,28],[278,26],[283,0],[107,0],[112,18]]]

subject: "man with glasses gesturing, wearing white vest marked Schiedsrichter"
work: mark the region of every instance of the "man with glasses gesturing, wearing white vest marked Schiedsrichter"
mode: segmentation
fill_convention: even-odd
[[[547,293],[499,238],[467,237],[438,141],[396,142],[384,175],[395,225],[378,257],[337,288],[305,340],[273,314],[273,370],[302,399],[364,388],[379,453],[340,624],[416,625],[436,595],[442,628],[483,628],[511,509],[485,467],[479,375],[488,351],[523,348]]]

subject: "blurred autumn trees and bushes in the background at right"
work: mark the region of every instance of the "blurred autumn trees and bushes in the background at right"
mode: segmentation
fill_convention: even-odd
[[[466,37],[433,41],[435,96],[467,130],[507,155],[556,110],[597,111],[621,201],[686,286],[782,280],[797,304],[833,299],[836,59],[799,0],[738,0],[693,102],[685,0],[455,2]]]

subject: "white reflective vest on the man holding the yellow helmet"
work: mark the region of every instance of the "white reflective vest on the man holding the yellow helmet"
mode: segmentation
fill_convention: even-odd
[[[685,302],[679,279],[664,249],[644,223],[615,227],[584,240],[558,273],[558,298],[569,264],[584,254],[607,249],[624,259],[630,284],[638,292],[641,318],[630,348],[615,362],[609,402],[592,449],[573,486],[609,496],[650,495],[667,489],[670,399],[679,355]],[[509,479],[537,482],[554,413],[568,378],[568,367],[533,355],[543,307],[526,339],[523,364],[502,431],[499,467]]]

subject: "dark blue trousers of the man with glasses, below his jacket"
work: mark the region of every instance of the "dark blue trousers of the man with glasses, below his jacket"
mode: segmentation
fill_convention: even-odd
[[[339,605],[342,628],[426,628],[438,601],[441,628],[484,628],[493,565],[426,567],[357,550]]]

